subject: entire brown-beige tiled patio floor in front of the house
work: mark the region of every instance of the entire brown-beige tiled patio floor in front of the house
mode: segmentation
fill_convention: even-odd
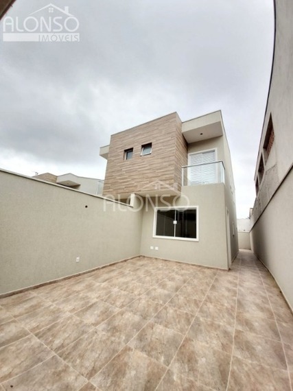
[[[293,318],[252,252],[138,257],[0,299],[3,390],[292,390]]]

